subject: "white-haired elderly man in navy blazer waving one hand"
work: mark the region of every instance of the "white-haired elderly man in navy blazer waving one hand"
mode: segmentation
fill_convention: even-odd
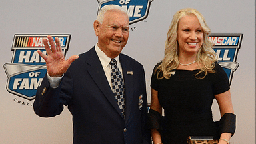
[[[38,51],[47,75],[37,90],[34,110],[54,117],[67,105],[73,115],[73,143],[150,143],[145,127],[147,95],[143,66],[121,54],[129,37],[129,15],[117,5],[101,9],[93,23],[97,44],[65,60],[59,39],[43,39]]]

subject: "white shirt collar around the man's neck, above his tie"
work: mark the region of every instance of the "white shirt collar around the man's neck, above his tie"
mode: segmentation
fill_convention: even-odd
[[[107,55],[103,51],[101,51],[101,49],[99,49],[98,43],[96,43],[95,45],[95,51],[99,57],[99,60],[101,61],[101,65],[106,68],[111,61],[111,58],[107,57]],[[119,56],[115,57],[115,60],[117,61],[117,63],[119,63]]]

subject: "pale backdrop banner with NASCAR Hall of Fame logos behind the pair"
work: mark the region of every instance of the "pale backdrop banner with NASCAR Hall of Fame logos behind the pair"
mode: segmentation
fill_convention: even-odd
[[[72,115],[35,115],[37,87],[47,72],[37,50],[46,53],[43,37],[59,37],[68,59],[97,43],[93,22],[104,5],[120,5],[129,13],[129,40],[122,53],[144,69],[150,105],[153,67],[163,59],[171,19],[179,9],[192,7],[211,28],[219,64],[229,77],[237,129],[231,143],[255,143],[255,1],[239,0],[91,0],[0,2],[0,144],[73,143]],[[219,107],[213,101],[213,119]],[[107,131],[106,131],[107,133]]]

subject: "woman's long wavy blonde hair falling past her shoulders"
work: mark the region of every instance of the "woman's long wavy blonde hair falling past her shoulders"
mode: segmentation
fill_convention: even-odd
[[[186,8],[181,9],[173,15],[173,20],[167,33],[167,39],[165,41],[165,57],[162,63],[155,69],[155,75],[158,79],[169,79],[171,77],[171,70],[177,69],[179,66],[179,45],[177,43],[177,27],[179,25],[179,19],[185,15],[195,15],[199,20],[199,23],[203,29],[203,45],[197,53],[197,63],[199,63],[200,71],[195,75],[199,79],[203,79],[207,73],[215,73],[213,68],[215,67],[215,61],[217,61],[217,55],[213,51],[213,43],[209,41],[208,35],[211,33],[210,28],[205,22],[205,18],[196,9]],[[159,75],[161,73],[161,75]],[[203,76],[198,77],[200,73],[204,73]]]

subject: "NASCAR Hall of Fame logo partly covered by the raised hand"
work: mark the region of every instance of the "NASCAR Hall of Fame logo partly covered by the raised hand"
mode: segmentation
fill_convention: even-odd
[[[64,55],[69,48],[71,35],[54,34],[53,39],[59,37]],[[39,56],[40,49],[46,54],[43,38],[47,35],[15,34],[13,39],[13,58],[11,63],[3,65],[7,74],[7,91],[28,100],[35,99],[37,87],[41,85],[47,71],[45,60]]]

